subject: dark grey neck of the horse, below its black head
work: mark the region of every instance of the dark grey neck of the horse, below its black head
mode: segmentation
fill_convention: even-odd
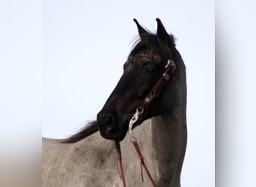
[[[183,72],[184,73],[184,72]],[[186,75],[180,80],[174,107],[151,119],[152,142],[156,152],[157,186],[180,186],[180,173],[186,151]]]

